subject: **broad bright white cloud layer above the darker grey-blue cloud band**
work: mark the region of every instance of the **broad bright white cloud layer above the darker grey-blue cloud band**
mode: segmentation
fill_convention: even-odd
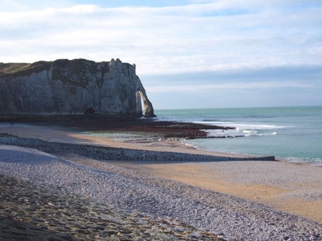
[[[307,1],[192,3],[2,12],[0,62],[120,58],[139,75],[321,64],[321,8]]]

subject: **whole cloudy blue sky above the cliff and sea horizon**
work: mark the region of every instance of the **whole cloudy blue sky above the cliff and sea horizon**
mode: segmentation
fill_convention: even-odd
[[[322,105],[320,0],[0,0],[0,62],[119,58],[154,109]]]

